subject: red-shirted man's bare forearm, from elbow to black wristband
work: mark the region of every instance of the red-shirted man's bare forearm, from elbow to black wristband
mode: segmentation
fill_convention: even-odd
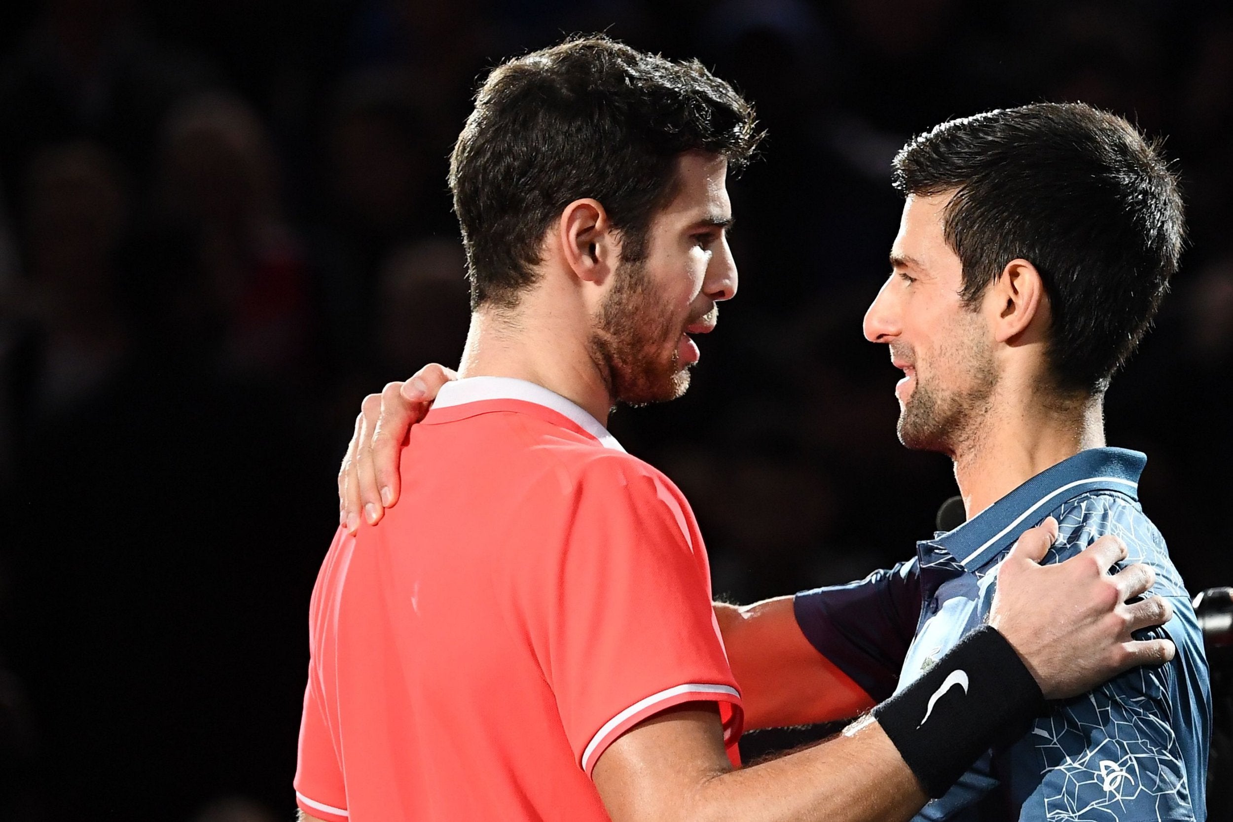
[[[790,757],[710,779],[689,822],[899,822],[928,797],[874,721]]]

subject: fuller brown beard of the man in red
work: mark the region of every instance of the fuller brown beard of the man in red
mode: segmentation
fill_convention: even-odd
[[[677,352],[679,320],[655,292],[644,262],[621,262],[591,335],[591,359],[614,402],[644,405],[676,399],[689,387]],[[663,359],[671,345],[672,355]]]

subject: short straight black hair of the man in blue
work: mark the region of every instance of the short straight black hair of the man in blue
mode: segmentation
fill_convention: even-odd
[[[1129,359],[1178,270],[1178,180],[1123,118],[1085,104],[1034,104],[952,120],[895,157],[906,195],[956,191],[946,240],[974,306],[1014,259],[1041,272],[1054,388],[1100,393]]]

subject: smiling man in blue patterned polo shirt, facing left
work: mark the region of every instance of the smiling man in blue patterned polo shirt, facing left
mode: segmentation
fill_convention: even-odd
[[[864,332],[905,375],[895,387],[900,440],[953,460],[968,521],[858,583],[716,604],[747,726],[852,716],[914,683],[988,617],[1018,535],[1053,518],[1047,562],[1113,535],[1127,562],[1153,568],[1149,593],[1174,612],[1153,635],[1171,638],[1176,657],[1051,704],[917,818],[1202,822],[1202,637],[1138,503],[1145,457],[1106,447],[1102,419],[1108,381],[1178,267],[1174,176],[1124,120],[1041,104],[942,123],[900,152],[895,181],[906,202],[893,272]],[[432,382],[445,376],[438,368]],[[411,393],[430,399],[435,385]],[[353,515],[356,487],[366,487],[370,520],[390,502],[375,493],[377,476],[391,476],[391,444],[418,414],[401,391],[391,383],[380,403],[365,403],[365,430],[385,430],[387,442],[382,456],[358,425],[356,458],[340,476]],[[920,726],[967,691],[968,672],[952,672]]]

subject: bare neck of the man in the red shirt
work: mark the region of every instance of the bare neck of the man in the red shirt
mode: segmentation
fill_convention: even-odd
[[[586,313],[550,311],[536,297],[531,291],[515,308],[472,312],[459,376],[534,382],[607,426],[613,398],[591,356]]]

